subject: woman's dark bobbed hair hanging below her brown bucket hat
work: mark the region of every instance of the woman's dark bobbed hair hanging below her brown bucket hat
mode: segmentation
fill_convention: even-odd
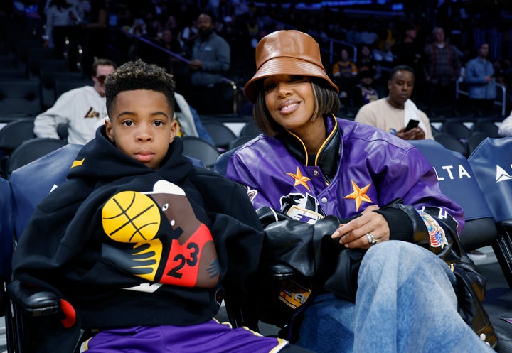
[[[311,88],[313,89],[314,112],[313,117],[326,116],[328,114],[338,114],[340,100],[338,93],[329,85],[326,80],[319,77],[309,77]],[[267,136],[274,136],[282,130],[282,126],[277,124],[270,115],[265,104],[265,92],[263,91],[262,81],[260,80],[260,91],[257,94],[252,117],[255,124]]]

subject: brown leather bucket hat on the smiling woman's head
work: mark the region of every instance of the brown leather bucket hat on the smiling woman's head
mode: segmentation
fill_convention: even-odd
[[[249,102],[256,100],[257,81],[272,75],[321,77],[339,92],[321,63],[318,43],[300,31],[275,31],[260,40],[256,46],[256,73],[244,87]]]

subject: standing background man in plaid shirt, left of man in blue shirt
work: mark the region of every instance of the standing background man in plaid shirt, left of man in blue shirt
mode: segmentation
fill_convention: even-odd
[[[431,105],[447,105],[455,98],[461,60],[457,49],[444,37],[441,27],[434,28],[434,40],[425,47],[425,80]]]

